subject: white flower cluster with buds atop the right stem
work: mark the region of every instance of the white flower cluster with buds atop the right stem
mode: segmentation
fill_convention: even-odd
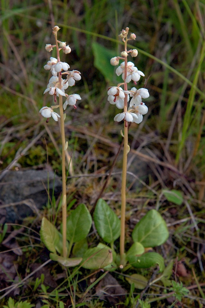
[[[116,69],[117,76],[122,75],[124,82],[119,83],[117,87],[108,88],[108,101],[112,105],[115,104],[117,108],[124,109],[124,112],[118,113],[114,117],[114,121],[120,122],[124,120],[139,124],[143,120],[143,115],[148,112],[148,107],[142,102],[142,99],[148,98],[149,92],[145,88],[140,88],[137,90],[136,87],[132,87],[131,90],[127,90],[127,83],[132,80],[136,85],[137,81],[140,80],[140,76],[144,77],[144,73],[139,71],[138,68],[135,67],[134,63],[127,61],[129,53],[132,57],[136,57],[138,55],[138,51],[136,49],[127,51],[127,41],[136,39],[136,35],[134,33],[131,33],[128,38],[128,31],[129,28],[127,27],[125,30],[123,29],[119,35],[125,44],[125,50],[121,52],[120,56],[113,57],[110,60],[110,63],[113,66],[118,65],[120,59],[124,60]],[[124,85],[124,90],[120,87],[121,85]]]

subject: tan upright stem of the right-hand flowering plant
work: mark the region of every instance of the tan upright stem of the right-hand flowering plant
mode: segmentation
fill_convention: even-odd
[[[127,37],[124,43],[124,50],[127,51]],[[127,91],[127,58],[124,59],[124,90]],[[128,95],[124,98],[124,112],[128,109]],[[124,121],[124,149],[122,163],[122,188],[121,188],[121,219],[120,219],[120,262],[125,265],[124,242],[125,242],[125,209],[126,209],[126,176],[127,176],[127,149],[128,149],[128,123]]]

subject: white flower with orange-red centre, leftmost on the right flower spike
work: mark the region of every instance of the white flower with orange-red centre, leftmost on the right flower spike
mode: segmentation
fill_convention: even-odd
[[[124,94],[129,94],[128,91],[124,91],[121,87],[110,87],[108,89],[108,101],[117,106],[117,108],[124,108]],[[129,95],[128,95],[129,100]]]

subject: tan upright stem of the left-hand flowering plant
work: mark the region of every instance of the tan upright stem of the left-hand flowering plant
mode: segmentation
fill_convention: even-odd
[[[57,59],[60,62],[59,47],[57,43],[57,33],[55,34]],[[58,73],[59,89],[61,89],[62,76]],[[63,115],[63,99],[59,94],[59,109],[60,109],[60,122],[61,122],[61,142],[62,142],[62,241],[63,241],[63,257],[67,257],[66,247],[66,174],[65,174],[65,127],[64,127],[64,115]]]

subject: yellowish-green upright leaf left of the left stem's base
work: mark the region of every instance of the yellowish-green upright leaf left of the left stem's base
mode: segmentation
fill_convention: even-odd
[[[48,248],[48,250],[56,253],[56,250],[58,250],[58,243],[60,241],[59,232],[56,227],[45,217],[43,217],[41,221],[40,236],[41,241]]]

